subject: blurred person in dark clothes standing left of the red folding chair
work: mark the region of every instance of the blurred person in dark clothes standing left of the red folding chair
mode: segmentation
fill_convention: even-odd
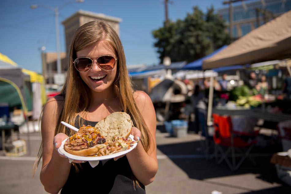
[[[202,132],[202,135],[206,134],[206,110],[207,106],[205,103],[205,95],[203,92],[200,91],[200,86],[195,85],[195,90],[193,95],[191,96],[191,104],[194,109],[195,114],[195,132],[198,133],[198,131]]]

